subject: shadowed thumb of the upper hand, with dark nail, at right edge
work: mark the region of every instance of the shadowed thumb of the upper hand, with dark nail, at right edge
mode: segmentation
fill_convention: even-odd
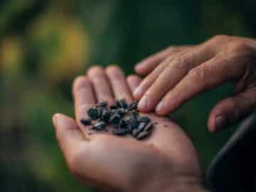
[[[252,112],[256,106],[256,89],[247,90],[218,102],[210,112],[208,129],[215,132],[238,122]]]

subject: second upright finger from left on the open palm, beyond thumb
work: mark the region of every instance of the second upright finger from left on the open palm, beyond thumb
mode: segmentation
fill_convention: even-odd
[[[96,66],[88,70],[88,77],[92,81],[97,102],[106,101],[109,105],[114,102],[110,82],[107,79],[105,70]]]

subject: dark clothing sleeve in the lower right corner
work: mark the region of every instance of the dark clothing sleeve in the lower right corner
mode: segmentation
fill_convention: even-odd
[[[242,121],[211,162],[207,180],[212,192],[256,191],[256,112]]]

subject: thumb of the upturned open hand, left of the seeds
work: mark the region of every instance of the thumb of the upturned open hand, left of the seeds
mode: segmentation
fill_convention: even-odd
[[[53,125],[60,148],[65,157],[68,158],[73,149],[85,139],[75,121],[64,114],[53,115]]]

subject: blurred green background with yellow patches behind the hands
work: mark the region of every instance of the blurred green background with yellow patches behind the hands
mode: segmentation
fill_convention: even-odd
[[[73,116],[70,85],[91,65],[134,64],[170,45],[218,33],[256,36],[256,1],[0,1],[0,191],[90,191],[68,172],[51,116]],[[208,112],[233,93],[205,92],[171,117],[206,169],[235,129],[210,134]]]

